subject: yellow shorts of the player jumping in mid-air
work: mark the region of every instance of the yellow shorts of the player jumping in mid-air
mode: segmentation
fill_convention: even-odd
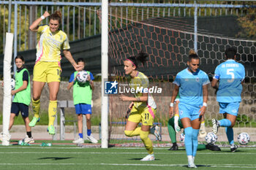
[[[33,81],[36,82],[60,82],[61,65],[59,62],[38,61],[34,65]]]

